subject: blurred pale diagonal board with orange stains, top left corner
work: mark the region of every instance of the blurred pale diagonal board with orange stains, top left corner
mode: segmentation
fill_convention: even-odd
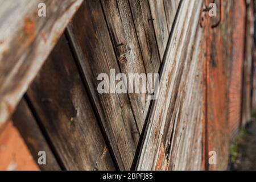
[[[0,1],[0,126],[13,113],[81,2]],[[38,16],[39,3],[46,4],[46,17]]]

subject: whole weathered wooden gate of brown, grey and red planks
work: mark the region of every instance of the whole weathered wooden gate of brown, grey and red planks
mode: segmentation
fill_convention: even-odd
[[[42,19],[24,14],[22,44],[10,40],[7,52],[0,44],[0,142],[12,120],[35,160],[46,151],[40,169],[227,169],[230,140],[250,119],[254,2],[81,2],[52,10],[53,27],[57,17],[77,10],[63,34],[53,36],[49,25],[40,29]],[[211,2],[216,17],[209,16]],[[31,52],[20,59],[14,49],[20,57]],[[98,93],[98,75],[110,76],[111,69],[160,73],[158,99]],[[212,151],[216,165],[208,163]],[[0,169],[7,168],[3,154]]]

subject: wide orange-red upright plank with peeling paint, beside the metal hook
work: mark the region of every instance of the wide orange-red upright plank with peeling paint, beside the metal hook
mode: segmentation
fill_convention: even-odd
[[[207,157],[216,152],[217,164],[206,166],[209,170],[226,170],[229,160],[229,78],[232,63],[232,10],[234,1],[222,1],[217,4],[221,23],[212,28],[209,21],[207,39]]]

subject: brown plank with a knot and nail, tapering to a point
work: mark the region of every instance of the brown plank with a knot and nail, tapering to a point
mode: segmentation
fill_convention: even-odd
[[[129,73],[147,73],[144,65],[147,65],[147,68],[151,67],[151,65],[150,62],[148,63],[142,59],[129,2],[127,0],[102,0],[102,6],[121,72],[127,76]],[[123,46],[117,46],[118,44],[123,44]],[[119,49],[119,47],[122,48]],[[142,81],[140,81],[140,84],[147,86]],[[127,88],[129,89],[128,85]],[[145,93],[131,93],[129,97],[139,131],[141,132],[150,100],[147,100],[147,94]]]

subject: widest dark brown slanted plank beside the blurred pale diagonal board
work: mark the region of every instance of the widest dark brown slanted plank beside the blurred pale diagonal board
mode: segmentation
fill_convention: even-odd
[[[115,169],[65,36],[27,96],[65,169]]]

